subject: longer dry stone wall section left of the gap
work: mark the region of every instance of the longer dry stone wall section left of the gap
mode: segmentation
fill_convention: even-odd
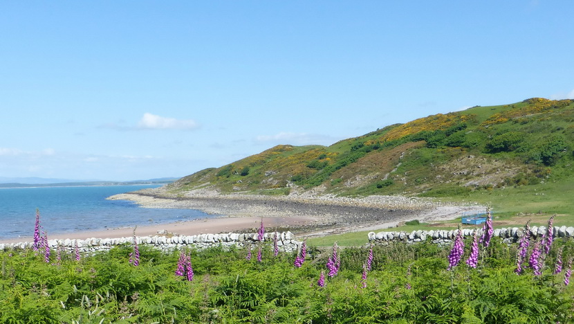
[[[276,232],[265,233],[263,242],[273,242]],[[182,249],[189,246],[193,249],[207,249],[213,246],[222,246],[223,249],[237,246],[238,248],[247,248],[254,246],[257,240],[257,233],[225,233],[225,234],[199,234],[199,235],[154,235],[154,236],[138,236],[136,241],[138,244],[150,245],[156,249],[164,251],[173,251],[174,249]],[[86,240],[48,240],[50,248],[55,249],[60,246],[63,251],[75,251],[75,246],[78,246],[82,253],[93,253],[98,251],[108,251],[114,246],[124,244],[133,244],[133,237],[119,237],[119,238],[95,238],[91,237]],[[293,233],[277,232],[277,246],[279,251],[293,252],[297,250],[297,246],[301,243],[295,239]],[[19,242],[0,244],[0,250],[5,249],[31,249],[33,242]]]

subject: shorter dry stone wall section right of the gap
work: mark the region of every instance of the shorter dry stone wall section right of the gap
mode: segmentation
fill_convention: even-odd
[[[554,226],[554,237],[574,237],[574,227],[566,227],[566,226]],[[416,243],[426,240],[431,240],[437,244],[446,244],[452,242],[454,237],[456,237],[456,233],[458,230],[437,230],[437,231],[412,231],[410,233],[407,232],[369,232],[369,242],[375,244],[388,244],[389,242],[405,242],[405,243]],[[471,229],[471,228],[464,228],[463,229],[463,238],[472,238],[474,236],[474,231],[479,231],[479,235],[482,234],[482,229]],[[503,242],[505,243],[513,243],[519,240],[521,237],[524,228],[518,227],[508,227],[508,228],[496,228],[494,229],[494,233],[492,233],[493,237],[501,237]],[[530,235],[533,238],[540,237],[546,233],[546,226],[533,226],[530,228]]]

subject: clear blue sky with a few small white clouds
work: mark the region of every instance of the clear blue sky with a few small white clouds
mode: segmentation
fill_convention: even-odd
[[[574,1],[0,1],[0,177],[183,177],[574,98]]]

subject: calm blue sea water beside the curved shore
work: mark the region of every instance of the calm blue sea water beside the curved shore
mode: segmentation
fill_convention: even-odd
[[[36,208],[50,233],[151,225],[210,217],[199,210],[140,208],[106,197],[156,186],[88,186],[0,189],[0,240],[34,235]]]

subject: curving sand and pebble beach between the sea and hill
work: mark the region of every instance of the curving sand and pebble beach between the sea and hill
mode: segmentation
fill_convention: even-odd
[[[400,222],[418,219],[438,222],[460,217],[463,211],[480,206],[450,206],[424,199],[397,196],[364,198],[340,197],[267,197],[253,195],[194,195],[170,197],[161,190],[142,190],[115,195],[108,199],[135,201],[142,208],[189,208],[214,217],[172,224],[142,225],[136,235],[174,233],[230,233],[257,231],[261,219],[266,228],[289,230],[298,236],[313,237],[352,231],[376,231]],[[109,228],[103,231],[54,233],[51,239],[86,239],[89,237],[130,237],[133,228]],[[32,237],[0,240],[0,243],[26,242]]]

